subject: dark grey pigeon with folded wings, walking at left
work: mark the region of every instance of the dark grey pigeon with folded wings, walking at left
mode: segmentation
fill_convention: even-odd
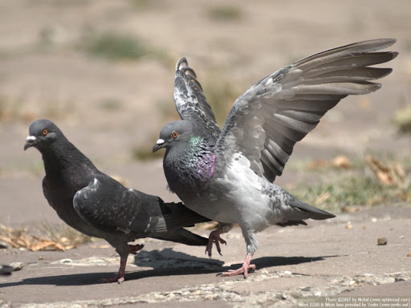
[[[207,238],[183,227],[210,219],[182,203],[164,203],[157,196],[124,187],[100,172],[51,121],[38,120],[30,125],[24,149],[32,146],[42,153],[46,171],[43,192],[50,206],[69,226],[105,239],[120,255],[118,275],[103,282],[124,281],[128,254],[143,247],[127,244],[135,239],[207,245]]]

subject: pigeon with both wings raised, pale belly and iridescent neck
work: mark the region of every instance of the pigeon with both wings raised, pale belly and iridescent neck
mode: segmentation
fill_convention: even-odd
[[[323,115],[350,94],[367,94],[381,85],[373,80],[391,72],[371,67],[397,52],[378,50],[396,40],[381,39],[323,51],[286,66],[260,80],[234,103],[222,130],[185,58],[176,66],[174,100],[182,121],[165,125],[153,151],[166,148],[163,168],[170,189],[185,206],[220,222],[210,234],[220,253],[221,233],[238,223],[247,257],[236,271],[254,269],[256,233],[270,225],[306,224],[306,219],[335,217],[297,200],[272,184],[281,176],[294,144]]]

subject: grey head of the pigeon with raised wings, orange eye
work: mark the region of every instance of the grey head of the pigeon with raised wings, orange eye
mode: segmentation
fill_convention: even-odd
[[[160,138],[153,147],[153,152],[173,146],[188,143],[193,133],[192,124],[189,121],[175,121],[166,124],[160,131]]]

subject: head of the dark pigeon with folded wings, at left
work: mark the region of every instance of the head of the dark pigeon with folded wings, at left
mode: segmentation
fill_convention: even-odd
[[[26,138],[24,150],[33,146],[41,151],[57,140],[61,134],[60,129],[49,120],[34,121],[29,127],[29,136]]]

